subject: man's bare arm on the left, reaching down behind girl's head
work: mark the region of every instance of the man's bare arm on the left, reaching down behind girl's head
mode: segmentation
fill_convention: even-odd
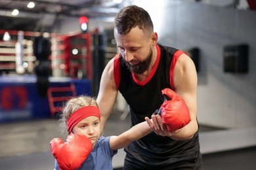
[[[100,79],[100,89],[98,91],[98,96],[96,102],[98,103],[98,108],[100,109],[100,126],[104,129],[106,120],[110,116],[114,104],[116,102],[117,88],[114,81],[114,58],[111,59],[106,65],[101,79]]]

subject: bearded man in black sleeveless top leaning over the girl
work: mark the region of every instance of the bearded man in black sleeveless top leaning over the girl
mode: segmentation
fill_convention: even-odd
[[[100,81],[97,103],[102,127],[119,91],[129,104],[132,125],[152,117],[153,122],[146,120],[155,132],[125,148],[124,169],[202,169],[196,118],[197,75],[192,59],[181,50],[157,44],[152,20],[140,7],[125,7],[114,24],[120,54],[106,65]],[[188,108],[190,116],[190,122],[175,131],[163,124],[162,114],[151,116],[163,107],[161,90],[165,88],[184,99],[183,107]]]

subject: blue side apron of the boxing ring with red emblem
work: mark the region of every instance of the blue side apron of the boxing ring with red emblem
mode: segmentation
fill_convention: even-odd
[[[41,96],[34,75],[0,76],[0,123],[51,118],[49,100]],[[68,77],[49,77],[49,87],[74,83],[77,95],[91,95],[91,81]]]

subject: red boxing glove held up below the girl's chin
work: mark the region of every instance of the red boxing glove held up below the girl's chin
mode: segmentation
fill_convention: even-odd
[[[74,133],[68,135],[65,143],[60,138],[54,138],[50,145],[60,170],[78,169],[93,150],[93,145],[87,137]]]

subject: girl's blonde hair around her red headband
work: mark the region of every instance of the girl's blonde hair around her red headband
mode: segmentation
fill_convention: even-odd
[[[67,121],[70,115],[75,112],[75,110],[85,106],[98,107],[95,98],[87,95],[79,95],[67,101],[62,110],[62,114],[60,114],[60,130],[63,132],[68,131]]]

